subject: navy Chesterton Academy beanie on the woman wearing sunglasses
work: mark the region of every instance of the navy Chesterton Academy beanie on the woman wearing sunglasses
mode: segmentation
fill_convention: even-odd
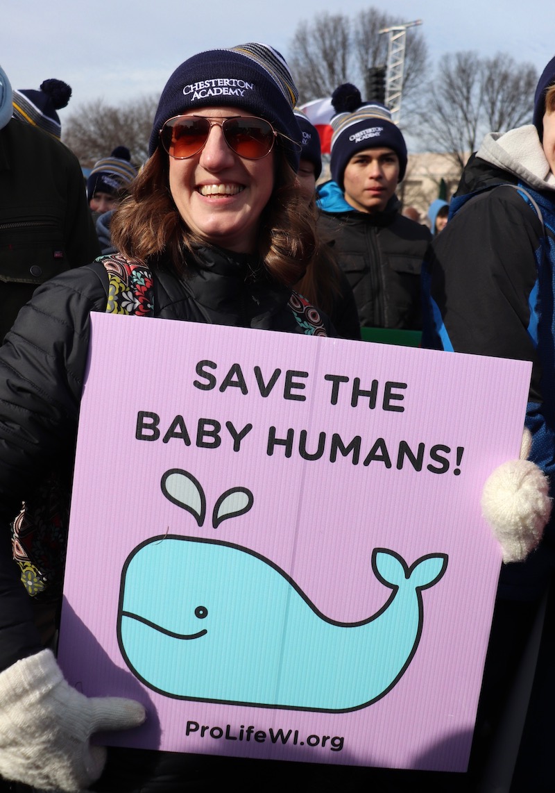
[[[268,44],[239,44],[194,55],[173,72],[162,91],[150,135],[158,147],[165,121],[202,107],[238,107],[266,119],[295,143],[281,138],[287,160],[298,169],[301,133],[293,108],[298,91],[283,56]]]

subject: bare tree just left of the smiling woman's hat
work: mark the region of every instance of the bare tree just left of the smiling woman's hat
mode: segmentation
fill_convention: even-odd
[[[93,167],[116,146],[127,146],[131,162],[148,158],[148,141],[158,97],[145,96],[124,105],[106,105],[101,99],[81,105],[64,121],[63,142],[82,167]]]

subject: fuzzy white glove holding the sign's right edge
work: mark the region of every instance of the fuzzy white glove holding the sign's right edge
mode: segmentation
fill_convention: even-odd
[[[527,460],[532,445],[524,430],[519,460],[504,462],[488,477],[481,508],[503,549],[503,561],[523,561],[538,546],[551,515],[549,480]]]

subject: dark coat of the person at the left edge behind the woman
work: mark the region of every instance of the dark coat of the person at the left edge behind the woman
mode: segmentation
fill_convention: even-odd
[[[38,285],[100,253],[77,157],[11,119],[0,130],[0,341]]]

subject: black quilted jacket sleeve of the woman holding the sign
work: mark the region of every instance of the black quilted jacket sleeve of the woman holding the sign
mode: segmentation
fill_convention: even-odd
[[[0,669],[40,649],[10,522],[53,465],[72,458],[89,314],[105,306],[95,269],[69,270],[36,290],[0,347]]]

